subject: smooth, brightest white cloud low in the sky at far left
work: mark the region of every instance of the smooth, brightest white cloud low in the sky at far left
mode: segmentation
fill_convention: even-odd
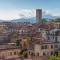
[[[0,11],[0,19],[2,20],[11,20],[11,19],[17,19],[20,16],[15,11]]]

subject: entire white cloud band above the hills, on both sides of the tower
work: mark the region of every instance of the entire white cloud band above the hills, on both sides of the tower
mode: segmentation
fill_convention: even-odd
[[[60,16],[60,9],[44,10],[43,15]],[[0,19],[12,20],[36,16],[36,9],[0,10]]]

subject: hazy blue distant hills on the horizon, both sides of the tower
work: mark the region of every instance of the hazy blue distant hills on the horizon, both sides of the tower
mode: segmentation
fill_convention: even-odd
[[[50,19],[60,18],[60,16],[44,15],[42,18],[50,20]],[[10,21],[0,20],[0,22],[31,22],[31,23],[35,23],[36,22],[36,18],[35,17],[32,17],[32,18],[21,18],[21,19],[13,19],[13,20],[10,20]]]

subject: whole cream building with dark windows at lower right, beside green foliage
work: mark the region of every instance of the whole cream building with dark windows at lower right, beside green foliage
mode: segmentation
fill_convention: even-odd
[[[43,42],[35,44],[34,52],[36,56],[48,56],[54,54],[60,49],[60,43]]]

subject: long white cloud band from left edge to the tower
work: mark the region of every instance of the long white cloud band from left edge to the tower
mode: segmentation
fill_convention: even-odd
[[[35,17],[34,9],[0,11],[0,19],[2,19],[2,20],[12,20],[12,19],[31,18],[31,17]]]

